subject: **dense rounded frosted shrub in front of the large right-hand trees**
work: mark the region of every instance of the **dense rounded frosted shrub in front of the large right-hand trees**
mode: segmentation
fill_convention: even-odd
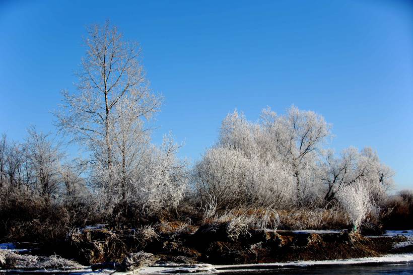
[[[231,148],[212,148],[192,171],[193,184],[202,202],[213,194],[217,207],[239,204],[280,206],[294,193],[294,178],[288,166],[272,160],[248,158]]]

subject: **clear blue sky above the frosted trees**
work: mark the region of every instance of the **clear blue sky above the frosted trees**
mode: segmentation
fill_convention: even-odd
[[[85,2],[85,3],[84,3]],[[87,2],[87,3],[86,3]],[[413,188],[413,6],[408,1],[1,1],[0,132],[53,131],[85,25],[110,19],[143,48],[181,156],[199,158],[234,108],[322,114],[331,147],[376,149]]]

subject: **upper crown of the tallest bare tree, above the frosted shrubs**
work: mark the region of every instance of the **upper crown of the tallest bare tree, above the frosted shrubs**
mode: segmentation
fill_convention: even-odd
[[[64,104],[55,112],[57,127],[74,134],[74,140],[88,146],[94,161],[113,164],[117,123],[124,119],[117,105],[135,108],[128,126],[148,119],[161,105],[145,79],[137,43],[123,40],[109,22],[88,28],[86,56],[78,73],[78,93],[63,91]],[[126,130],[127,129],[122,129]]]

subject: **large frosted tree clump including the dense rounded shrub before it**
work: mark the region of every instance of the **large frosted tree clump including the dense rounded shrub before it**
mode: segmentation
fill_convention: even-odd
[[[328,135],[321,116],[294,106],[282,116],[264,109],[256,123],[234,111],[217,145],[195,165],[193,182],[201,197],[213,193],[222,204],[234,196],[245,204],[305,203],[320,187],[317,152]]]

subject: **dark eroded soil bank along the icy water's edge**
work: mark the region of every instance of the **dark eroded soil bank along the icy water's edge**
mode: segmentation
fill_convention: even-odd
[[[225,226],[192,228],[177,232],[170,223],[152,230],[85,229],[73,232],[53,247],[38,253],[56,253],[89,265],[120,261],[130,252],[146,251],[160,261],[214,264],[269,263],[294,260],[327,260],[412,252],[413,246],[392,246],[403,237],[365,238],[347,231],[296,233],[248,231],[234,239]]]

